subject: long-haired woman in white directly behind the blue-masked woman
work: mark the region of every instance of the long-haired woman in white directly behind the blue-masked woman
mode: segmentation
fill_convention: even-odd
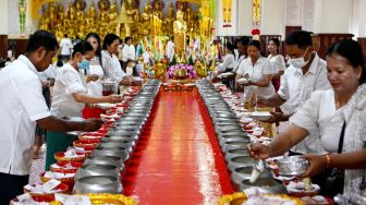
[[[90,60],[89,70],[87,72],[86,87],[88,95],[101,96],[102,84],[105,79],[105,71],[101,67],[101,43],[100,37],[96,33],[89,33],[86,35],[86,41],[88,41],[94,49],[95,57]]]

